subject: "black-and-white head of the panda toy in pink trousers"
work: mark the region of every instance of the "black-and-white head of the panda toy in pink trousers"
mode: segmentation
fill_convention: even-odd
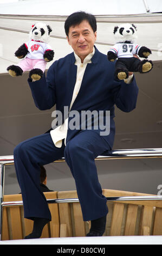
[[[47,43],[49,41],[50,32],[51,32],[50,26],[47,26],[42,22],[38,22],[32,27],[29,33],[30,40],[34,40],[34,41],[39,40]]]

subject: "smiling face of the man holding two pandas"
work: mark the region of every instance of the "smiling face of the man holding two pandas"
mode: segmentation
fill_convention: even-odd
[[[86,56],[93,52],[96,32],[93,32],[88,21],[83,20],[79,25],[69,27],[67,40],[83,62]]]

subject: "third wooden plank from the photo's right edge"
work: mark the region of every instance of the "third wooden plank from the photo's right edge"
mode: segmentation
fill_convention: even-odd
[[[135,234],[135,224],[137,221],[138,205],[129,204],[127,209],[124,235]]]

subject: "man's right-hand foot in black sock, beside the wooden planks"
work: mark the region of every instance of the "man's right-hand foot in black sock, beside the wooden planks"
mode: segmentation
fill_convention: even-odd
[[[106,216],[91,221],[89,233],[86,236],[102,236],[106,228]]]

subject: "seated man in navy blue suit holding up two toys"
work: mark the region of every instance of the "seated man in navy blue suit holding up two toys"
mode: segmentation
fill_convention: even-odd
[[[64,28],[74,52],[56,60],[47,77],[28,80],[36,107],[45,110],[56,106],[63,121],[49,132],[18,144],[14,150],[24,217],[34,221],[33,232],[25,239],[40,237],[44,225],[51,220],[46,198],[40,190],[40,166],[61,157],[65,158],[75,179],[83,220],[91,221],[87,236],[103,235],[108,208],[98,180],[95,157],[113,147],[114,105],[129,112],[137,102],[134,75],[127,80],[114,80],[115,63],[108,62],[107,56],[94,46],[95,17],[82,11],[74,13],[67,18]],[[68,108],[66,113],[65,107]],[[78,118],[74,122],[72,113],[76,112]],[[97,118],[91,119],[90,126],[82,119],[85,112],[96,113]],[[95,119],[99,123],[103,120],[105,132],[103,125],[96,125]],[[74,123],[77,123],[75,127]]]

